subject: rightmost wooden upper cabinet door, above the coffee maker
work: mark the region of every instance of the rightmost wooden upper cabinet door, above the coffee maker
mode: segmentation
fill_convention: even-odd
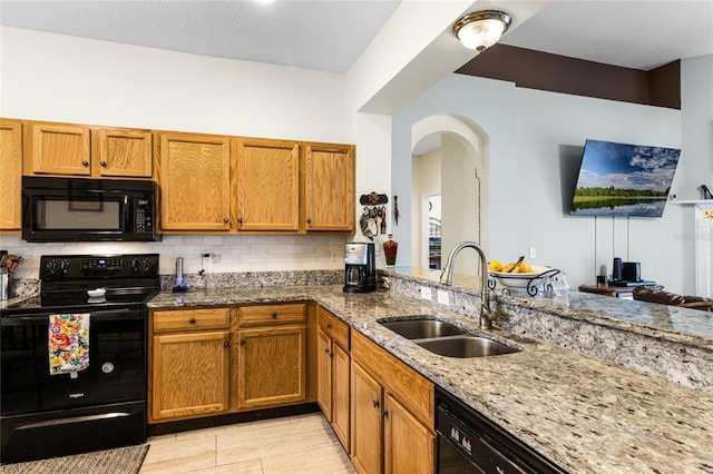
[[[307,230],[354,230],[354,147],[307,144],[305,149]]]

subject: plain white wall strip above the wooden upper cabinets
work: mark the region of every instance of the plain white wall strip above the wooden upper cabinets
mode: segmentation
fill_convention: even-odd
[[[351,142],[341,75],[16,28],[0,40],[3,117]]]

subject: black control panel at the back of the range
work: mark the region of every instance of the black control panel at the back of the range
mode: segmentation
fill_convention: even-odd
[[[43,255],[40,279],[79,280],[158,276],[158,254],[137,255]]]

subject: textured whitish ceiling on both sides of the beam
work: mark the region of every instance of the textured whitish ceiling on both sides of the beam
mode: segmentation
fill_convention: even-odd
[[[487,1],[489,8],[504,11],[508,3]],[[399,4],[390,0],[0,0],[0,24],[345,72]],[[501,42],[648,70],[713,53],[713,2],[553,1],[525,23],[514,24]]]

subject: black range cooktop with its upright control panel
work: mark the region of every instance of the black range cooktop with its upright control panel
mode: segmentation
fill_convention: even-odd
[[[42,256],[40,280],[38,296],[9,305],[2,316],[146,307],[160,290],[158,254]],[[99,287],[105,296],[89,297],[87,290]]]

